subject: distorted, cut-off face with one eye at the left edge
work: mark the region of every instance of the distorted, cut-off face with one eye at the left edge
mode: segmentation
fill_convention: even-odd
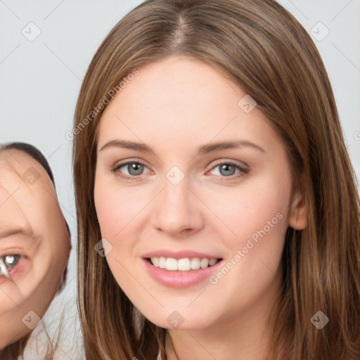
[[[0,153],[0,349],[22,338],[56,295],[70,239],[45,169],[20,150]]]

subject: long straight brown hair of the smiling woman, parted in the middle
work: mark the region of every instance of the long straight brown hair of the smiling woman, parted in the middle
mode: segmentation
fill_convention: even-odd
[[[273,0],[147,0],[104,39],[75,110],[78,306],[86,359],[156,359],[165,329],[143,319],[94,251],[96,129],[120,82],[141,65],[188,56],[221,68],[269,118],[304,193],[306,229],[288,228],[269,359],[360,359],[360,222],[356,177],[326,69],[307,31]],[[101,105],[102,104],[102,105]],[[104,105],[105,104],[105,105]],[[323,311],[318,330],[310,319]],[[281,348],[281,354],[278,349]]]

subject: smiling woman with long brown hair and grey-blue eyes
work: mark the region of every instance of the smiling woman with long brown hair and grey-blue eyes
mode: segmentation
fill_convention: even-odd
[[[275,1],[144,1],[91,61],[73,134],[86,359],[360,358],[354,172]]]

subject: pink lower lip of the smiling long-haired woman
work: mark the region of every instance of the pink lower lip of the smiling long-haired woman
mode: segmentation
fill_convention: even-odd
[[[210,278],[210,276],[219,269],[222,260],[205,269],[200,268],[190,271],[170,271],[153,266],[153,264],[146,259],[143,259],[143,262],[148,274],[162,285],[169,286],[169,288],[187,288],[188,286],[204,281],[206,278]]]

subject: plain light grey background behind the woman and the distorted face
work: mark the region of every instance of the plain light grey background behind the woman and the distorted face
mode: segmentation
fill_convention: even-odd
[[[347,148],[359,179],[360,0],[279,2],[314,35],[333,84]],[[140,3],[0,1],[0,143],[25,141],[46,155],[72,231],[68,285],[44,317],[51,336],[56,335],[61,311],[65,309],[59,359],[82,359],[75,305],[77,238],[72,143],[65,134],[72,129],[80,85],[96,49],[122,16]],[[31,39],[39,31],[41,34]],[[328,36],[322,39],[327,31]],[[27,352],[25,359],[34,359],[34,355]]]

